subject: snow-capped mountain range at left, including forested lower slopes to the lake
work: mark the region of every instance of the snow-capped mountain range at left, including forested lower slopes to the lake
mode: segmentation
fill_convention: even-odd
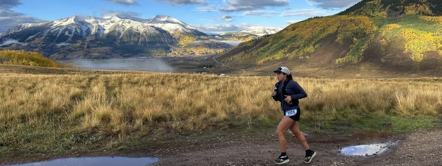
[[[187,42],[178,42],[184,37],[187,37]],[[204,41],[205,44],[190,45],[190,39]],[[170,16],[141,19],[76,15],[44,23],[20,24],[8,29],[0,33],[0,49],[38,51],[54,59],[63,59],[166,54],[174,51],[180,54],[204,54],[207,50],[219,52],[231,47],[211,39],[211,36]]]

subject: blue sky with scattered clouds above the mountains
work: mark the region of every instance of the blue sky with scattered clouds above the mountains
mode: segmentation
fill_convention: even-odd
[[[20,23],[72,15],[152,18],[167,15],[203,32],[250,26],[286,27],[314,16],[332,15],[359,0],[0,0],[0,32]]]

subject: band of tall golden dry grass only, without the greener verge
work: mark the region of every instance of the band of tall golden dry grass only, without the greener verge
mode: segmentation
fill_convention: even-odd
[[[201,130],[232,121],[277,122],[270,76],[188,74],[0,74],[0,125],[73,126],[127,133],[164,126]],[[308,97],[302,119],[316,125],[361,116],[438,115],[442,83],[295,78]]]

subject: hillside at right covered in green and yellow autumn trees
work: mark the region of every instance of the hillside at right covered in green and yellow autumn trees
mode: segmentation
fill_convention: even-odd
[[[363,0],[337,15],[307,19],[242,43],[220,58],[249,66],[288,60],[316,67],[370,62],[434,68],[442,65],[441,3]]]

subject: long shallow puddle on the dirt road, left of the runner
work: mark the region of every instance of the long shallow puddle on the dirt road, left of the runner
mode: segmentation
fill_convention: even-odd
[[[158,158],[83,157],[23,163],[9,166],[145,166],[158,162]]]

